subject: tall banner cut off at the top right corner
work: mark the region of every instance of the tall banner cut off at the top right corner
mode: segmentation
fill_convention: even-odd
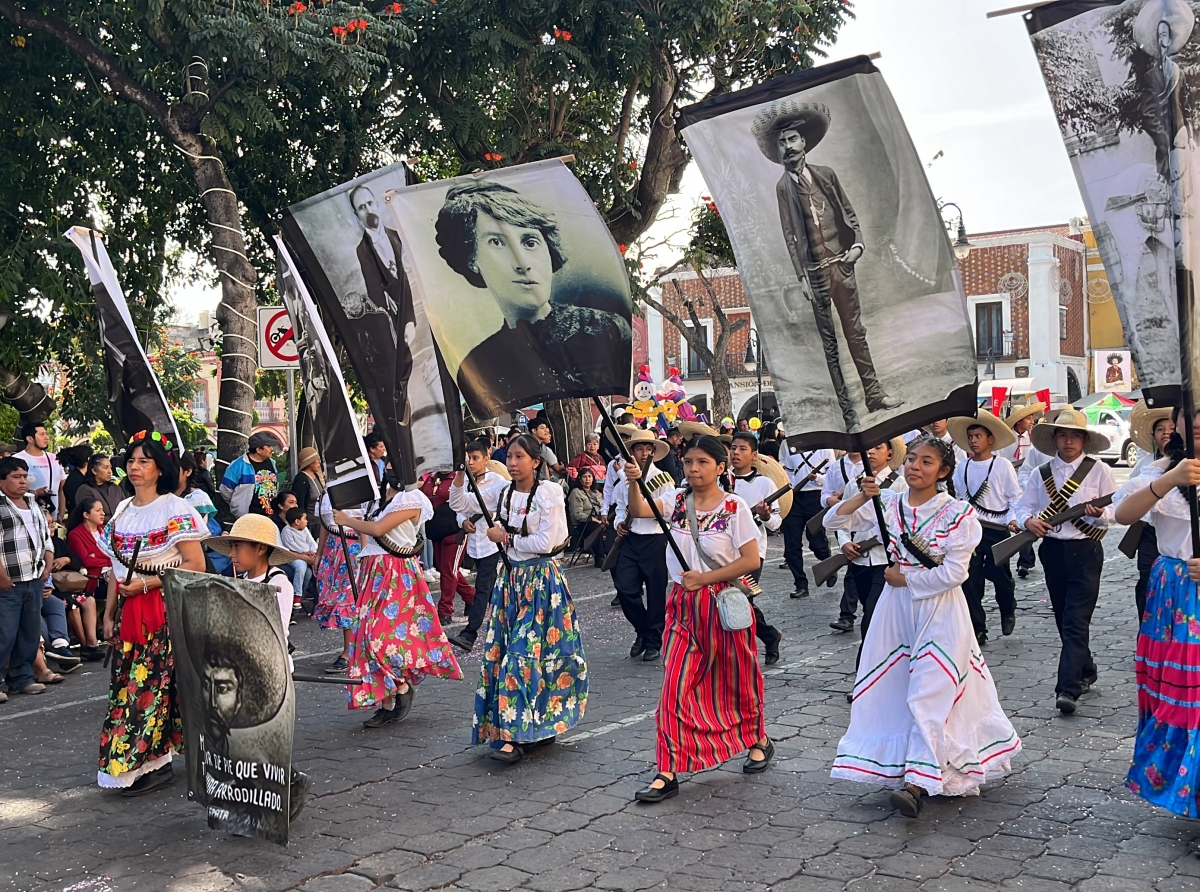
[[[1139,383],[1153,405],[1178,397],[1176,252],[1188,270],[1198,261],[1190,223],[1200,211],[1198,7],[1069,0],[1026,14]],[[1108,354],[1098,359],[1096,389],[1118,389],[1108,379],[1117,373]],[[1117,369],[1128,387],[1128,363]]]

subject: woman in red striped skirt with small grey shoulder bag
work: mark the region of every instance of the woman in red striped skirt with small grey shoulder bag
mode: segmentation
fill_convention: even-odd
[[[683,456],[688,485],[662,496],[659,510],[671,519],[671,538],[688,561],[679,565],[667,549],[667,619],[662,694],[655,714],[658,774],[638,790],[640,802],[661,802],[679,794],[680,771],[703,771],[749,750],[742,771],[767,770],[775,744],[767,737],[762,670],[755,627],[727,631],[721,625],[716,595],[733,580],[760,567],[754,513],[740,496],[722,489],[728,453],[715,437],[696,437]],[[653,517],[642,498],[637,462],[625,465],[629,513]],[[719,569],[709,569],[696,550],[688,523],[688,499],[696,511],[697,535],[704,553]]]

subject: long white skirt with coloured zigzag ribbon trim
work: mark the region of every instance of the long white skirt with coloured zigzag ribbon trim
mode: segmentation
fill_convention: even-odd
[[[976,796],[1021,749],[976,643],[961,588],[884,586],[863,642],[833,777]]]

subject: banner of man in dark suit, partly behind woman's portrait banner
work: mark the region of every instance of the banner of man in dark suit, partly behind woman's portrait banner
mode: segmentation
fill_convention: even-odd
[[[404,188],[401,162],[322,192],[283,214],[283,237],[334,325],[401,483],[462,460],[462,412],[421,300],[404,275],[383,196]]]

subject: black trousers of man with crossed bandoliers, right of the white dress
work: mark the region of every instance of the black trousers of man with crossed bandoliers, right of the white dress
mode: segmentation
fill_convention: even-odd
[[[1048,537],[1042,540],[1038,557],[1046,574],[1054,621],[1062,641],[1055,694],[1078,698],[1084,678],[1096,675],[1090,640],[1092,613],[1100,594],[1104,546],[1092,539]]]

